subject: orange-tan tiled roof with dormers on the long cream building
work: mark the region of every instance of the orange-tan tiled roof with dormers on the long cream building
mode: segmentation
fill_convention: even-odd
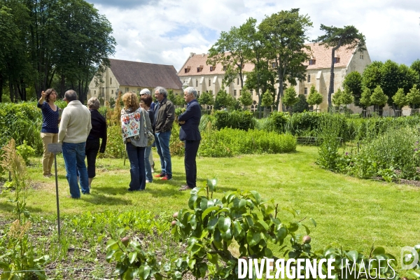
[[[318,43],[308,43],[311,47],[311,56],[315,58],[315,64],[309,65],[309,61],[304,62],[304,65],[307,65],[307,69],[330,69],[331,67],[331,50],[332,48],[325,48],[323,45],[319,45]],[[191,56],[192,55],[192,56]],[[217,74],[224,74],[223,65],[216,64],[213,71],[210,71],[210,66],[207,65],[207,58],[209,57],[208,54],[195,54],[192,53],[190,57],[187,59],[186,63],[182,66],[181,70],[178,72],[178,76],[193,76],[193,75],[217,75]],[[346,67],[350,59],[353,55],[353,50],[347,50],[346,46],[342,46],[338,50],[335,51],[335,56],[339,56],[339,63],[334,64],[334,67]],[[197,72],[198,67],[202,67],[200,72]],[[190,71],[185,73],[187,67],[190,67]],[[245,64],[244,71],[252,71],[253,64]]]

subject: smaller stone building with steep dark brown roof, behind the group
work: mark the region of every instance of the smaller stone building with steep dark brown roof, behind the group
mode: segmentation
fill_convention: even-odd
[[[118,97],[118,92],[153,89],[158,86],[167,90],[174,90],[182,94],[182,83],[176,75],[172,65],[132,62],[127,60],[109,59],[110,67],[102,74],[102,79],[92,78],[89,84],[88,98],[97,97],[101,101],[108,101]]]

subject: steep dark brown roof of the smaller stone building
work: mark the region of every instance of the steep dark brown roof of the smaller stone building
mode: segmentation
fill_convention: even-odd
[[[111,71],[120,85],[158,87],[181,90],[182,83],[172,65],[109,59]]]

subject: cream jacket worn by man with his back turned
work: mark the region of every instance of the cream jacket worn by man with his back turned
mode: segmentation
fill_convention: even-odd
[[[58,143],[78,144],[85,142],[91,128],[89,109],[80,101],[73,100],[63,110],[62,119],[59,123]]]

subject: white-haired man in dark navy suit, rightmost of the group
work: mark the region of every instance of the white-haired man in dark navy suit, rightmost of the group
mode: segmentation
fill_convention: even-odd
[[[187,184],[179,190],[190,190],[196,187],[197,182],[197,157],[198,146],[200,146],[201,135],[198,130],[201,118],[201,107],[197,102],[197,90],[194,87],[187,87],[184,90],[184,99],[187,103],[187,110],[178,117],[181,130],[179,139],[184,141],[186,151],[184,164],[186,166]]]

